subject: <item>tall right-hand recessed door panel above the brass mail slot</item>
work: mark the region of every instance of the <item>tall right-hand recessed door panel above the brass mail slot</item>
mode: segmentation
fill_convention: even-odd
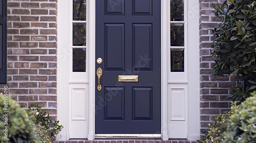
[[[152,23],[133,24],[133,67],[152,70]]]

